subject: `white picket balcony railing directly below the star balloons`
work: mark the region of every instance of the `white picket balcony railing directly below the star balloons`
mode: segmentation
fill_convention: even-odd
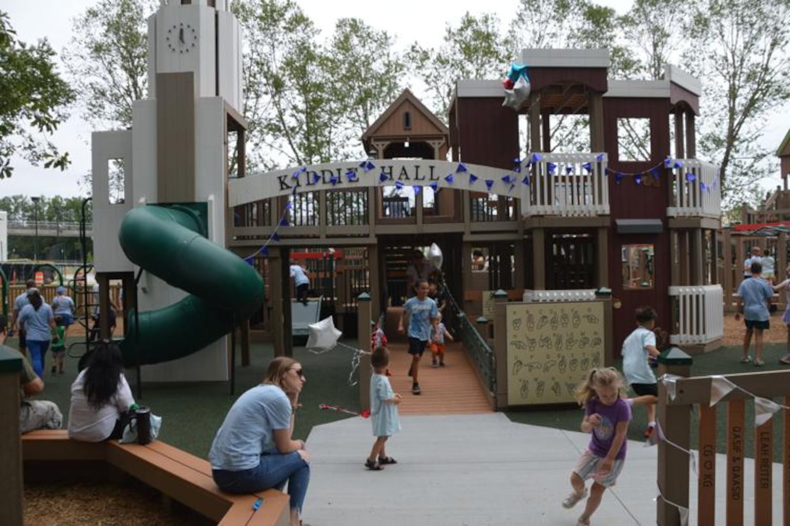
[[[592,217],[609,214],[606,153],[533,153],[521,214]],[[525,174],[527,175],[527,174]]]

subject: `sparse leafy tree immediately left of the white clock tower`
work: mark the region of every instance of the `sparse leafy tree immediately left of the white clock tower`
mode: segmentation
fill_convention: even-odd
[[[101,0],[74,21],[64,62],[84,108],[98,129],[132,125],[132,104],[148,92],[148,26],[155,0]]]

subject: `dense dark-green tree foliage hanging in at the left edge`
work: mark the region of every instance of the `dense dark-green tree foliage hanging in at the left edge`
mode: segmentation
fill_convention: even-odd
[[[46,40],[35,46],[19,42],[0,11],[0,179],[13,174],[15,154],[44,168],[65,170],[70,164],[69,154],[58,152],[47,138],[66,120],[73,100],[54,57]],[[44,137],[36,138],[31,129]]]

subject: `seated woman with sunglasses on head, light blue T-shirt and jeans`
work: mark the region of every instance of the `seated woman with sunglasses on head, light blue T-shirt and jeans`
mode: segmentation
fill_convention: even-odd
[[[209,452],[220,490],[239,494],[282,490],[288,482],[292,526],[299,525],[310,482],[304,441],[291,437],[305,380],[298,361],[274,358],[263,382],[239,396],[228,411]]]

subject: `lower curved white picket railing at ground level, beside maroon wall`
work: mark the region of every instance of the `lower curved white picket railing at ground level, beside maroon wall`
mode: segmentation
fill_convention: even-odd
[[[720,285],[671,286],[677,313],[675,345],[705,344],[724,336],[724,293]]]

